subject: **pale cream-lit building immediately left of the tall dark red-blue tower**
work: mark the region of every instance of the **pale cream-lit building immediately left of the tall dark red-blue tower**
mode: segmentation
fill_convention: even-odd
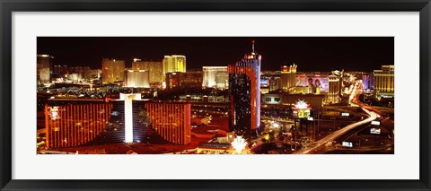
[[[227,66],[202,66],[203,82],[202,86],[206,88],[226,88],[229,81]]]

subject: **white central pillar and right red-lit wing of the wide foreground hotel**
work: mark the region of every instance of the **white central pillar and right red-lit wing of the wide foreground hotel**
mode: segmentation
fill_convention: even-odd
[[[191,142],[189,102],[147,102],[141,100],[140,93],[121,93],[119,100],[124,100],[126,143],[151,142],[147,139],[149,135],[154,136],[154,133],[168,143]]]

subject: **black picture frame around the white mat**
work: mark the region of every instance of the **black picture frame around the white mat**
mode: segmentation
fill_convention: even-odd
[[[0,0],[1,190],[430,190],[429,0]],[[14,180],[12,179],[13,12],[419,12],[420,178],[418,180]],[[402,165],[402,164],[400,164]],[[393,172],[402,173],[402,172]]]

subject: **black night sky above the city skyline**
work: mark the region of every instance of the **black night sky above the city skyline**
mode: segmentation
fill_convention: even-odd
[[[393,65],[392,37],[39,37],[38,54],[54,56],[54,65],[101,68],[101,58],[162,60],[184,55],[187,68],[229,65],[251,53],[262,55],[262,71],[298,65],[298,72],[372,72]]]

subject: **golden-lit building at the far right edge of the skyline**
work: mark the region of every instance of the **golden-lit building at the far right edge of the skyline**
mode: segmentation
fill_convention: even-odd
[[[374,70],[374,93],[378,98],[393,97],[395,91],[395,65],[382,65]]]

